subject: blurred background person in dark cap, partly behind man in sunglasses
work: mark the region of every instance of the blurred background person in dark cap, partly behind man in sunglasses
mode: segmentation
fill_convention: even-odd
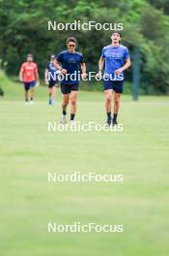
[[[49,105],[54,104],[55,90],[58,84],[57,69],[54,66],[55,61],[55,55],[52,54],[50,57],[50,61],[47,63],[44,73],[45,83],[46,85],[48,85],[49,90]]]

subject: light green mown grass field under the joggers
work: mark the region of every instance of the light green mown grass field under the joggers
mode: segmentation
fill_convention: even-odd
[[[2,78],[1,78],[2,79]],[[123,132],[47,132],[61,93],[3,77],[0,100],[0,256],[169,255],[169,98],[123,96]],[[79,92],[77,121],[104,123],[103,94]],[[123,174],[124,182],[48,183],[48,172]],[[124,233],[47,233],[47,223],[123,224]]]

